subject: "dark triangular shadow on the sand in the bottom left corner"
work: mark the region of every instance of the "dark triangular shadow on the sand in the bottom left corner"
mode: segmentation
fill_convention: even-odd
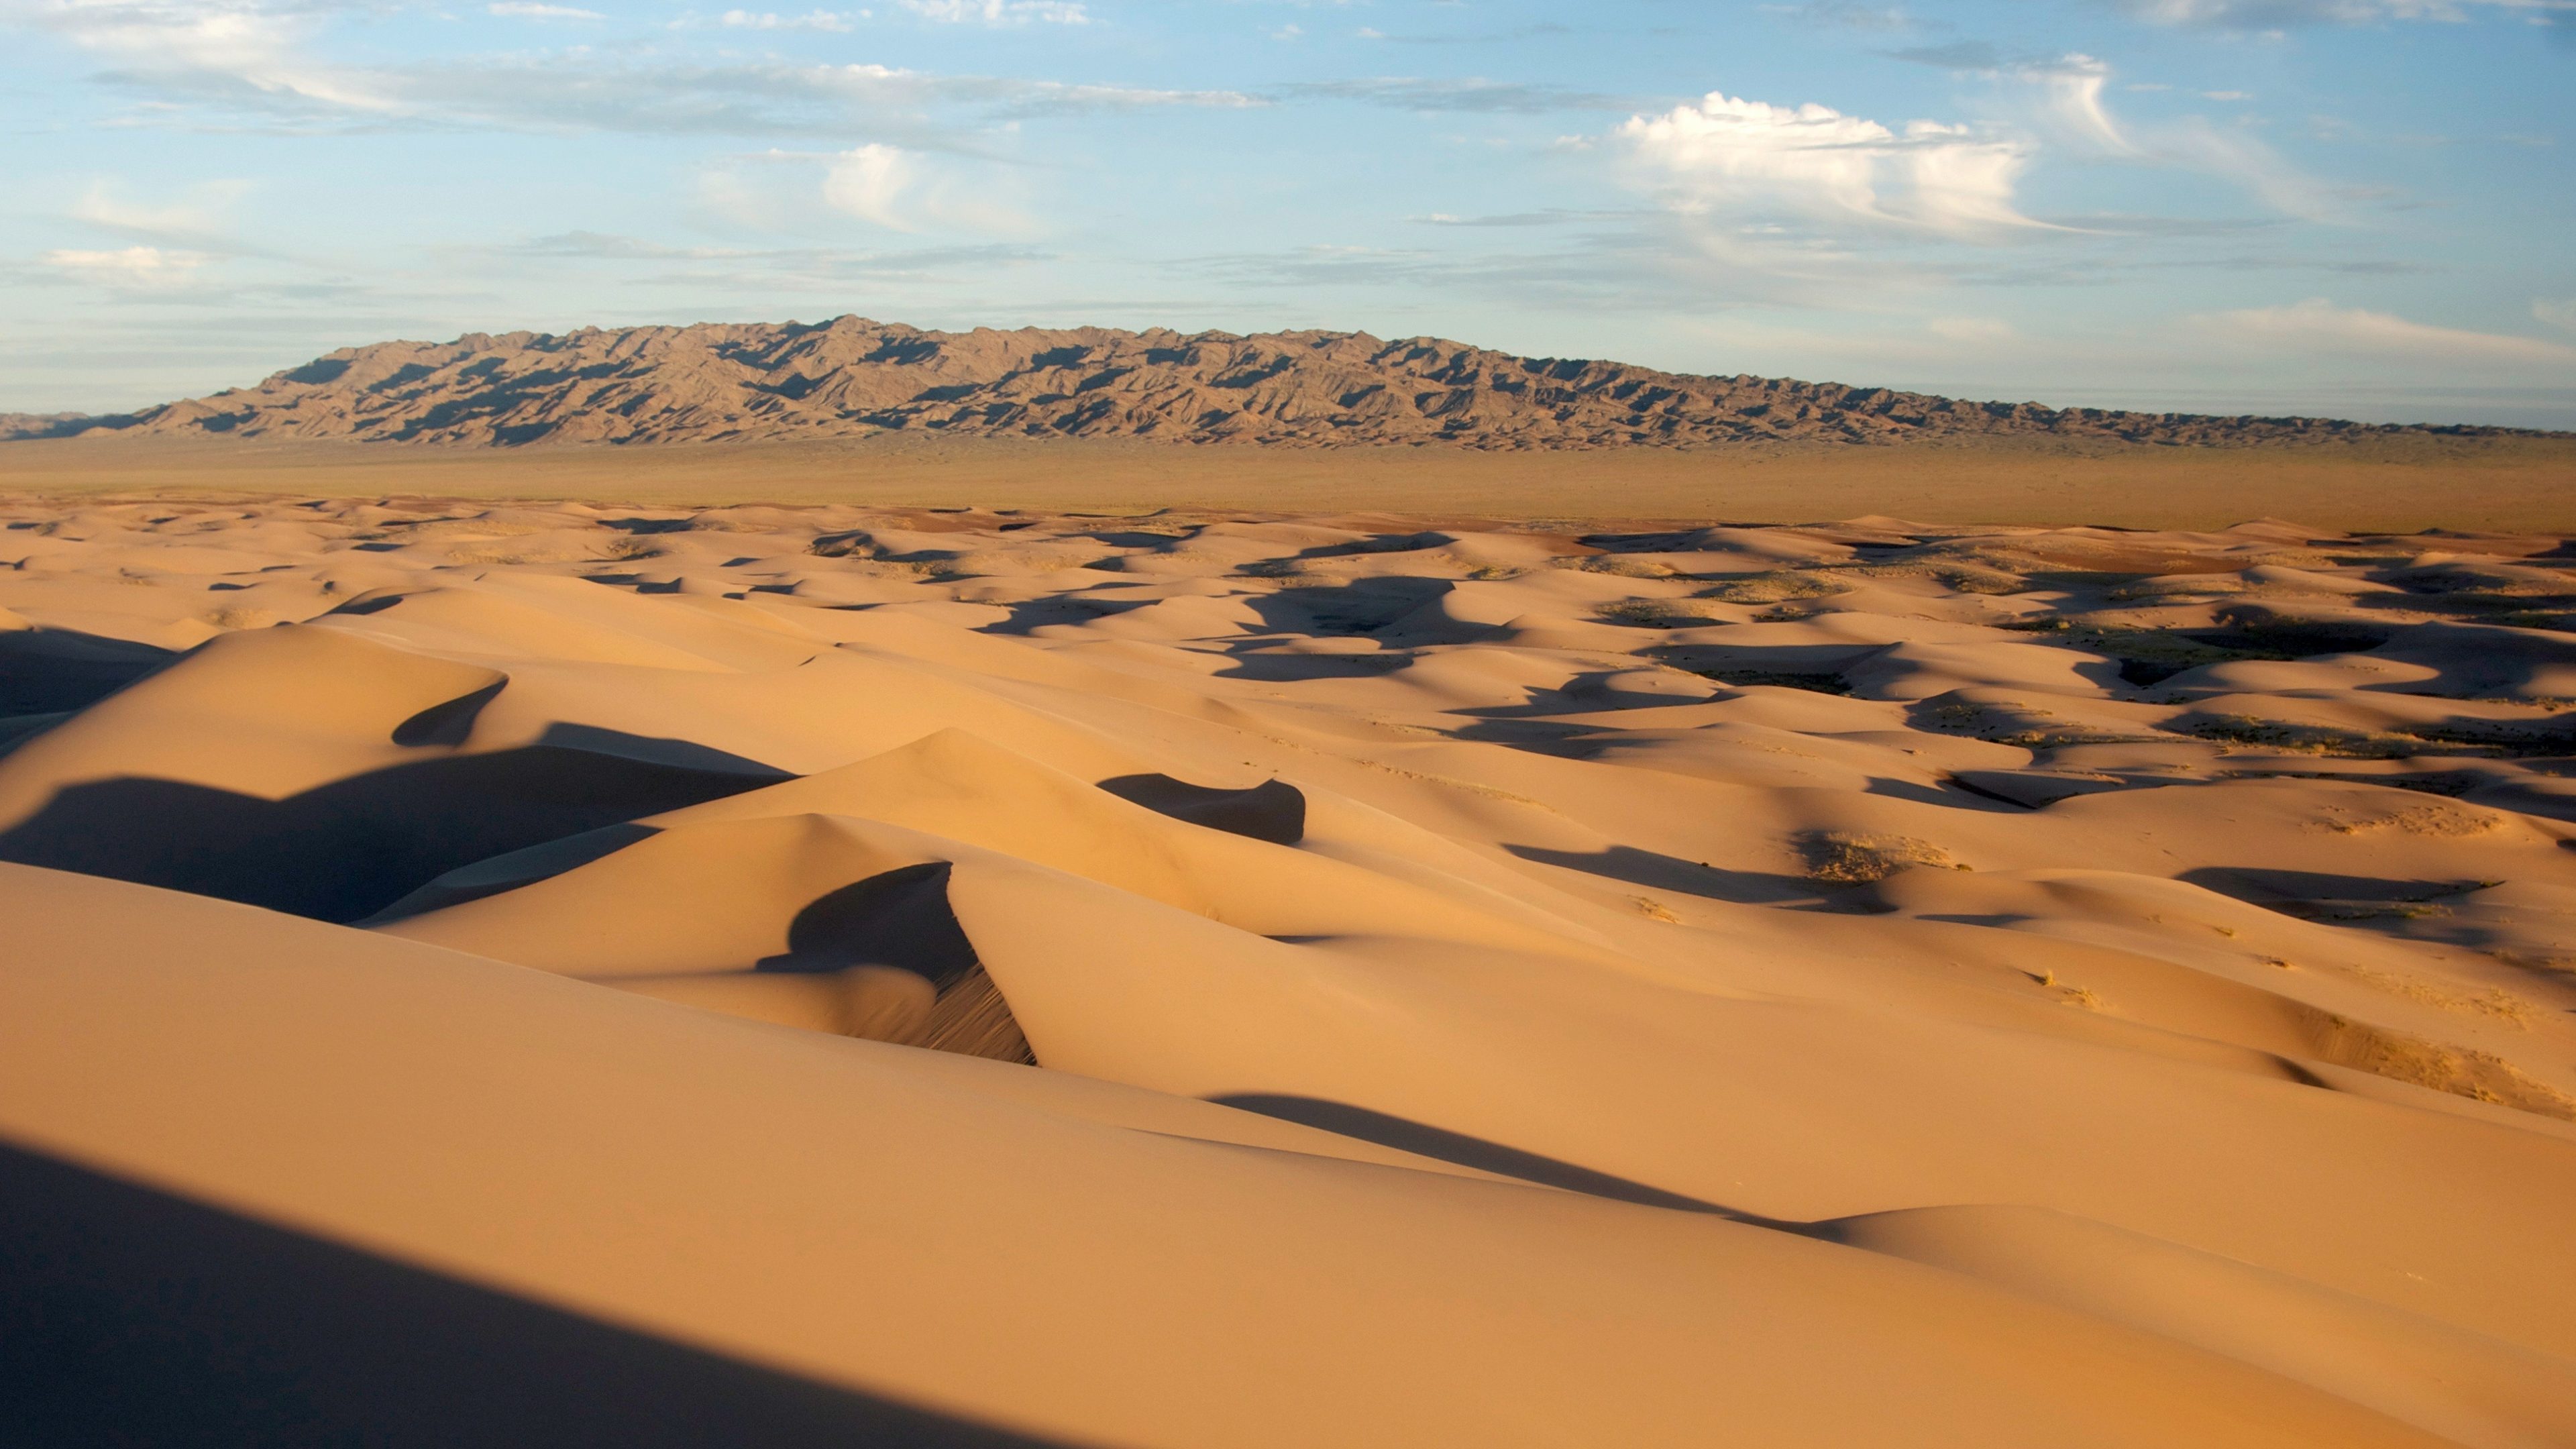
[[[0,1145],[0,1220],[5,1444],[1054,1444],[613,1328],[10,1145]]]

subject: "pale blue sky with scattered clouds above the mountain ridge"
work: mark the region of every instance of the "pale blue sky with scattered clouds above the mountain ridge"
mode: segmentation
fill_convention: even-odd
[[[855,312],[2576,428],[2576,0],[0,0],[0,410]]]

